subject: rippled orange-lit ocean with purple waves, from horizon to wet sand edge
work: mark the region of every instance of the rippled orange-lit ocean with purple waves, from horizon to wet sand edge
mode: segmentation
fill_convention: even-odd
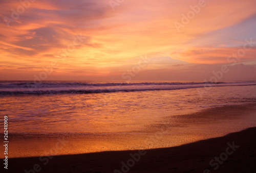
[[[255,90],[253,81],[1,81],[0,113],[9,133],[141,133],[165,117],[255,103]]]

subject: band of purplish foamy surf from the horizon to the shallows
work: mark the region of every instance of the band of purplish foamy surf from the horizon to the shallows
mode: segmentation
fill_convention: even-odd
[[[0,95],[15,94],[87,94],[132,92],[147,90],[176,90],[218,86],[248,86],[256,82],[142,82],[142,83],[86,83],[86,82],[0,82]]]

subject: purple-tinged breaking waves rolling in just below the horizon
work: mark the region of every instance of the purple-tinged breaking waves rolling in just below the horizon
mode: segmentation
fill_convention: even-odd
[[[72,83],[73,85],[74,83]],[[106,85],[111,84],[111,85]],[[240,82],[240,83],[182,83],[182,84],[174,84],[174,83],[131,83],[131,85],[113,85],[114,83],[105,83],[104,85],[96,84],[98,87],[73,87],[72,89],[65,85],[65,88],[30,88],[23,90],[0,90],[0,95],[20,95],[20,94],[90,94],[90,93],[108,93],[108,92],[134,92],[134,91],[153,91],[153,90],[177,90],[177,89],[189,89],[189,88],[204,88],[204,87],[221,87],[221,86],[249,86],[256,85],[256,83],[250,82]],[[115,83],[117,84],[117,83]],[[100,86],[100,87],[99,87]],[[111,87],[110,87],[111,86]]]

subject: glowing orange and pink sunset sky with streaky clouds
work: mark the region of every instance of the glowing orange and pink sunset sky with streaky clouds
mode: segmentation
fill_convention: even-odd
[[[1,0],[0,80],[256,80],[255,0]]]

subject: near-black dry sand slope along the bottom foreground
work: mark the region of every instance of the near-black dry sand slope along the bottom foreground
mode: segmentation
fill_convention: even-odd
[[[210,166],[209,162],[215,157],[225,157],[227,143],[239,145],[236,151],[226,155],[227,159],[219,164],[214,170],[217,162]],[[144,151],[145,152],[145,151]],[[144,152],[142,154],[144,154]],[[4,172],[26,172],[25,169],[35,169],[39,172],[123,172],[121,162],[126,163],[132,157],[130,154],[138,151],[115,151],[100,152],[79,155],[53,156],[49,163],[43,157],[13,158],[9,159],[9,169]],[[131,160],[130,160],[131,161]],[[133,164],[131,162],[130,164]],[[40,168],[38,168],[40,166]],[[3,168],[3,164],[2,164]],[[201,140],[181,146],[146,150],[146,154],[125,172],[204,172],[204,169],[211,172],[256,172],[256,128],[231,133],[223,137]],[[2,172],[2,171],[1,171]],[[36,172],[36,171],[27,171]],[[208,172],[205,170],[205,172]]]

